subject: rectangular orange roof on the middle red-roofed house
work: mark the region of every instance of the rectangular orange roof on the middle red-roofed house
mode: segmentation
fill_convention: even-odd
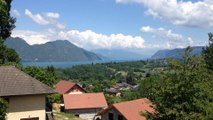
[[[65,109],[106,108],[103,93],[64,94]]]

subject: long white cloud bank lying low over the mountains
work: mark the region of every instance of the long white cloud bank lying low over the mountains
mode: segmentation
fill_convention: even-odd
[[[54,40],[68,40],[78,47],[94,49],[170,49],[183,48],[188,45],[196,45],[189,37],[166,30],[165,28],[141,27],[144,33],[150,33],[156,42],[148,44],[141,36],[124,34],[100,34],[92,30],[58,30],[49,28],[41,32],[29,30],[14,30],[12,37],[21,37],[30,45],[44,44]]]

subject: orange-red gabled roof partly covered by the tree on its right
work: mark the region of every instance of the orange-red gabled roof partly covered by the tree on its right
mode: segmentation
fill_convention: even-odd
[[[103,110],[99,115],[104,114],[108,110],[114,108],[127,120],[146,120],[145,116],[141,115],[141,112],[154,113],[155,110],[152,107],[152,103],[147,98],[115,103],[109,108]]]

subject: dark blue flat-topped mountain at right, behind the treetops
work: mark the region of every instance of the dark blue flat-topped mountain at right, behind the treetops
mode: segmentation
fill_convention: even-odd
[[[204,48],[204,46],[195,46],[192,48],[193,48],[193,51],[192,51],[193,55],[201,55],[202,48]],[[151,57],[151,59],[163,59],[163,58],[181,59],[180,54],[184,54],[184,48],[176,48],[172,50],[159,50]]]

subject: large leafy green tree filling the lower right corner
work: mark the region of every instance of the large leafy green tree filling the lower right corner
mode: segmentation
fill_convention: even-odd
[[[213,119],[212,75],[203,59],[191,51],[186,48],[183,60],[169,60],[169,71],[159,75],[158,84],[144,89],[147,95],[143,97],[151,97],[157,111],[151,119]]]

